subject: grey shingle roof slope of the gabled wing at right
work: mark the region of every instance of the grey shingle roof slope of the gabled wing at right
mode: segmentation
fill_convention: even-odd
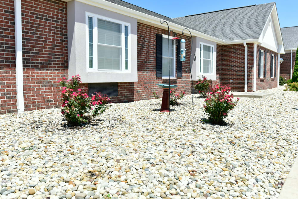
[[[274,3],[219,10],[173,18],[194,30],[226,41],[257,39]]]

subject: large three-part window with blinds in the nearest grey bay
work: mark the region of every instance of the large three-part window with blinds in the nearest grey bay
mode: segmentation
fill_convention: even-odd
[[[130,24],[86,13],[87,71],[129,72]]]

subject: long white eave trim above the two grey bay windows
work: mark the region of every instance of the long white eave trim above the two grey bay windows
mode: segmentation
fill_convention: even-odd
[[[68,0],[63,0],[63,1],[67,2]],[[123,15],[126,15],[126,16],[134,17],[136,19],[148,21],[150,23],[157,24],[159,26],[163,26],[163,27],[167,28],[166,24],[161,24],[160,23],[160,20],[164,21],[163,19],[151,16],[151,15],[148,15],[148,14],[145,14],[145,13],[141,13],[139,11],[132,10],[130,8],[123,7],[123,6],[120,6],[118,4],[108,2],[108,1],[104,1],[104,0],[75,0],[75,1],[79,1],[81,3],[89,4],[89,5],[96,6],[96,7],[100,7],[100,8],[103,8],[105,10],[110,10],[112,12],[116,12],[116,13],[123,14]],[[175,29],[176,31],[181,31],[182,32],[182,30],[185,28],[184,26],[181,26],[181,25],[169,22],[169,21],[167,21],[167,22],[168,22],[169,26],[171,27],[171,29]],[[219,44],[224,44],[225,43],[225,41],[222,40],[222,39],[209,36],[207,34],[198,32],[196,30],[192,30],[192,29],[190,29],[190,30],[191,30],[193,36],[197,36],[197,37],[204,38],[204,39],[207,39],[207,40],[210,40],[210,41],[214,41],[214,42],[217,42]],[[185,32],[185,34],[188,35],[187,32]]]

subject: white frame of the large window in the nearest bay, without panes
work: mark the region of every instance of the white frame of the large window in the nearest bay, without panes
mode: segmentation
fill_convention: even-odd
[[[88,18],[92,17],[93,23],[93,68],[89,68],[89,29],[88,29]],[[114,23],[121,24],[121,66],[120,70],[98,70],[97,66],[97,19],[102,19],[105,21],[111,21]],[[125,26],[128,27],[128,69],[125,70]],[[103,44],[105,45],[105,44]],[[110,45],[108,45],[110,46]],[[87,72],[108,72],[108,73],[130,73],[131,72],[131,24],[125,21],[116,20],[113,18],[93,14],[86,12],[86,71]]]

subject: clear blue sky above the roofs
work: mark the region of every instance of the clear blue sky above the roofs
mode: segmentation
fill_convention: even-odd
[[[254,4],[265,4],[270,0],[124,0],[128,3],[143,7],[161,15],[175,18],[198,13],[206,13],[234,7],[242,7]],[[298,26],[297,12],[298,0],[276,0],[277,13],[280,27]],[[182,4],[181,4],[182,3]]]

